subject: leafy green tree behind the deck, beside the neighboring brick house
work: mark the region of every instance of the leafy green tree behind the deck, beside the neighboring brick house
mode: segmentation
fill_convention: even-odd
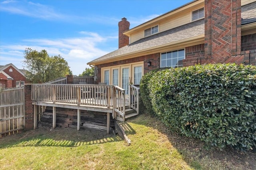
[[[50,57],[45,49],[39,52],[26,48],[24,58],[24,67],[28,69],[27,78],[32,83],[45,83],[64,77],[69,71],[68,62],[64,58],[60,55]]]

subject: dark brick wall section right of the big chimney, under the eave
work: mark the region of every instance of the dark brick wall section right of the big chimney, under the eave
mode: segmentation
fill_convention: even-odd
[[[241,37],[241,51],[256,49],[256,33]]]

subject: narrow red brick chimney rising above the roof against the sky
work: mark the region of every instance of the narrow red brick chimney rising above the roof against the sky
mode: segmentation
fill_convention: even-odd
[[[122,18],[122,21],[118,22],[118,28],[118,48],[121,48],[129,44],[129,37],[124,35],[123,32],[130,29],[130,22],[126,18]]]

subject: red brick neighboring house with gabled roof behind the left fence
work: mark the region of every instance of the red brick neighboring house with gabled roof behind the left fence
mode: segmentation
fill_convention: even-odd
[[[12,63],[0,65],[0,88],[24,86],[30,83],[26,79],[26,70],[18,69]]]

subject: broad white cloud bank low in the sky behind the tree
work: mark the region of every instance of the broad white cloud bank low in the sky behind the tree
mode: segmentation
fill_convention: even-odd
[[[62,38],[62,39],[27,39],[17,44],[1,43],[0,49],[0,64],[5,65],[14,63],[18,68],[23,68],[20,61],[24,60],[24,50],[27,47],[41,51],[45,49],[50,56],[60,55],[66,61],[73,74],[79,75],[84,71],[89,61],[101,57],[110,51],[104,51],[100,47],[96,47],[99,43],[107,41],[96,33],[83,32],[81,37],[77,38]],[[86,34],[85,34],[86,33]]]

